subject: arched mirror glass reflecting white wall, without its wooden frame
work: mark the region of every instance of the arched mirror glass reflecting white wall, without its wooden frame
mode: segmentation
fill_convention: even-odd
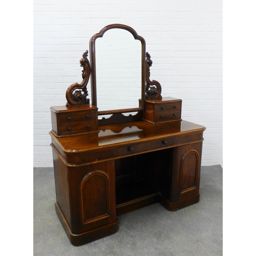
[[[110,29],[95,40],[99,111],[139,107],[141,51],[141,41],[124,29]]]

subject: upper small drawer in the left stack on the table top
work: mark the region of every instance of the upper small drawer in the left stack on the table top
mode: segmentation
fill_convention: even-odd
[[[84,122],[92,121],[96,119],[96,111],[79,112],[79,113],[69,113],[69,114],[59,114],[58,119],[60,123],[74,123],[74,122]]]

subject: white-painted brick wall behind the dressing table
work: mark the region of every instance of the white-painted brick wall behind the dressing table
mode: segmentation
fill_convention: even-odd
[[[206,126],[202,165],[222,164],[222,1],[35,0],[34,166],[53,166],[50,106],[66,104],[91,36],[113,23],[144,37],[162,96],[181,98],[182,119]]]

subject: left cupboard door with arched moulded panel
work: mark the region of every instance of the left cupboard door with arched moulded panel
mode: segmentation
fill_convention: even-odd
[[[88,232],[116,221],[115,162],[69,168],[71,231]]]

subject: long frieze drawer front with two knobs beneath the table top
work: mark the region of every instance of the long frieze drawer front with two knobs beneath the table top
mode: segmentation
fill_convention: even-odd
[[[120,158],[126,156],[132,156],[134,154],[151,152],[154,150],[159,150],[161,148],[170,147],[177,144],[183,143],[194,143],[203,140],[203,133],[196,133],[184,136],[177,136],[172,138],[163,138],[153,141],[145,141],[141,143],[129,144],[120,147],[109,147],[104,150],[92,150],[88,153],[78,153],[78,154],[67,154],[66,161],[70,164],[83,164],[94,161]]]

